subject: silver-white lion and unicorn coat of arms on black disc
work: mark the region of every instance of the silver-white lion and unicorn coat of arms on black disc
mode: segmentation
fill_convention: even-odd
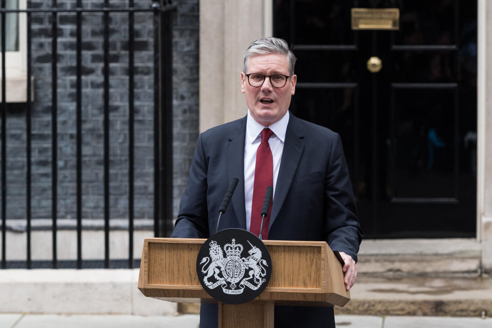
[[[223,250],[215,240],[210,240],[209,256],[203,257],[199,264],[204,275],[204,288],[213,290],[221,286],[224,294],[238,295],[246,287],[256,291],[262,286],[266,281],[264,277],[269,265],[262,259],[261,250],[249,240],[247,242],[250,246],[249,255],[241,257],[243,246],[236,243],[235,238],[232,238],[231,243],[225,244]]]

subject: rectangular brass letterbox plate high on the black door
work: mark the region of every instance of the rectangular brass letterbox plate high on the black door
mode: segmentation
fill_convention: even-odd
[[[352,8],[353,30],[398,30],[400,9],[398,8]]]

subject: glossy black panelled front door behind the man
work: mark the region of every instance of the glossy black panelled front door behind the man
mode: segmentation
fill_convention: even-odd
[[[399,30],[352,30],[351,8],[398,8]],[[292,112],[342,137],[364,235],[475,236],[476,2],[275,0],[274,35]]]

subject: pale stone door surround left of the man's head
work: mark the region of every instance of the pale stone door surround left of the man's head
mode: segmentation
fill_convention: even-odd
[[[200,132],[247,113],[241,93],[242,56],[271,36],[271,0],[200,2]]]

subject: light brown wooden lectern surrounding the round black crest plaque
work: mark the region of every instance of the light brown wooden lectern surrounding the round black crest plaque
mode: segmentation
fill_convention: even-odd
[[[206,240],[146,238],[138,289],[147,297],[171,302],[217,302],[196,274],[196,257]],[[219,303],[219,328],[273,328],[274,304],[343,306],[350,300],[342,265],[326,242],[263,242],[273,263],[267,288],[248,303]]]

